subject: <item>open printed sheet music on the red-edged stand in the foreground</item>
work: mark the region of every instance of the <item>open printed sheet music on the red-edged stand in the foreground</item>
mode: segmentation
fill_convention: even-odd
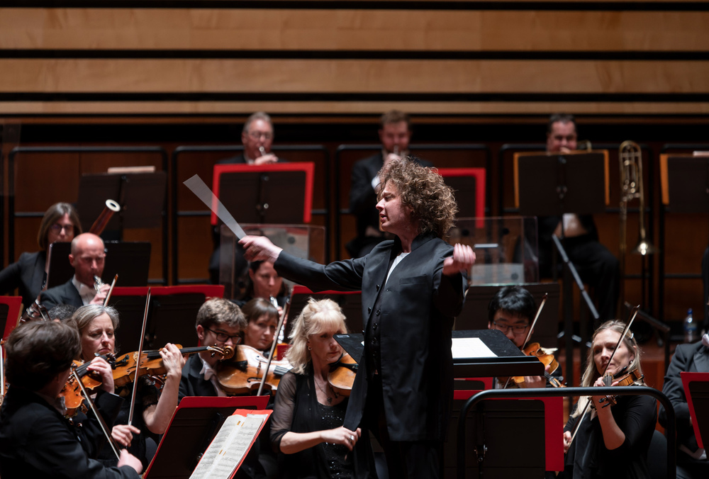
[[[229,416],[204,451],[190,479],[230,478],[267,417],[252,414]]]

